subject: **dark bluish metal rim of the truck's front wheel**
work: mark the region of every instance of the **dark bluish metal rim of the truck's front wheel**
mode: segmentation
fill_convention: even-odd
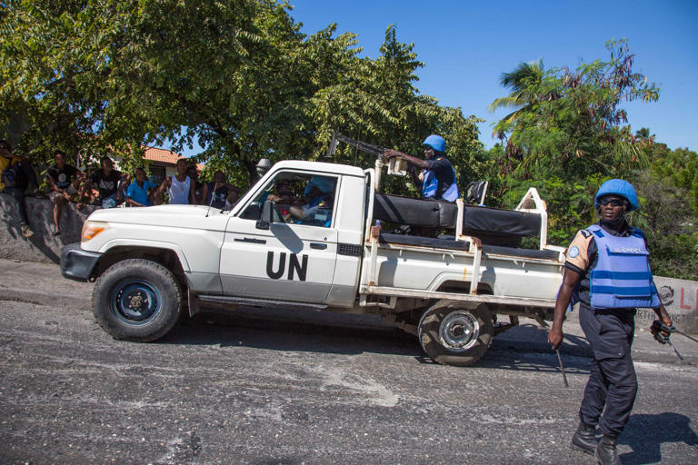
[[[129,280],[115,287],[110,306],[116,318],[131,326],[141,326],[155,318],[162,307],[160,292],[150,282]]]

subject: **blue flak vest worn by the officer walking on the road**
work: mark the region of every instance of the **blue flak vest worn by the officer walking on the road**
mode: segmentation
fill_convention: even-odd
[[[595,309],[659,307],[661,302],[654,287],[647,260],[650,252],[643,233],[633,228],[629,236],[614,236],[598,224],[586,231],[593,234],[598,248],[598,260],[589,280],[591,306]]]

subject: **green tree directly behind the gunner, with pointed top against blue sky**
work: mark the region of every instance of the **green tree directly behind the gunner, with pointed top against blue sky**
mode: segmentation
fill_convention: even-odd
[[[317,154],[324,153],[334,131],[417,156],[424,152],[421,143],[426,135],[441,134],[461,187],[481,178],[484,148],[477,123],[483,120],[465,117],[460,108],[441,106],[433,97],[419,94],[416,72],[424,64],[417,59],[414,44],[398,42],[392,25],[385,31],[380,52],[375,60],[349,58],[341,79],[314,95],[314,124],[321,143]],[[374,164],[369,155],[347,146],[339,147],[335,161]],[[386,183],[392,192],[417,194],[403,180]]]

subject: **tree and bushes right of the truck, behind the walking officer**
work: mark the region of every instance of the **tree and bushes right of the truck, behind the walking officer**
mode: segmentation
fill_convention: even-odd
[[[623,102],[653,102],[659,89],[633,72],[624,41],[607,44],[611,58],[543,70],[519,64],[501,83],[511,94],[491,109],[514,107],[494,126],[502,143],[490,151],[498,161],[489,173],[494,198],[513,207],[535,186],[550,213],[549,239],[569,243],[577,230],[596,221],[593,197],[601,183],[622,178],[640,196],[630,221],[647,234],[654,272],[698,279],[698,155],[669,150],[648,129],[632,134]]]

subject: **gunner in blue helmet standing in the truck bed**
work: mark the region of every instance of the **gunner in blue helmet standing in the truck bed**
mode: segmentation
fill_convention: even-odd
[[[422,145],[424,160],[393,149],[385,150],[383,156],[385,160],[399,156],[414,167],[410,173],[414,183],[422,188],[422,196],[425,199],[455,202],[460,193],[455,180],[454,166],[444,156],[446,141],[442,136],[432,134],[424,139]],[[417,172],[415,168],[422,168],[422,171]]]

